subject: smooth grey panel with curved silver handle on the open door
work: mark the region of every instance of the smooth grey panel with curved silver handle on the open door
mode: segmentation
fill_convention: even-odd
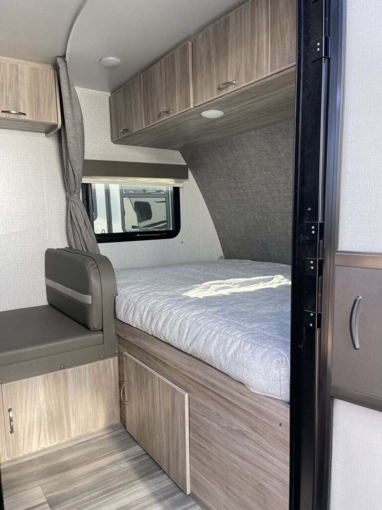
[[[336,267],[332,384],[382,398],[382,270]],[[358,312],[356,296],[361,296]],[[351,337],[357,333],[359,349]]]

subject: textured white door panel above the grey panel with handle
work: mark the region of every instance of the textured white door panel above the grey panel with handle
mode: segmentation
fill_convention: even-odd
[[[382,10],[347,0],[339,249],[382,252]]]

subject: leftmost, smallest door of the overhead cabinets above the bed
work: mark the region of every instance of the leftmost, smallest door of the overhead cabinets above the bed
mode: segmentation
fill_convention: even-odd
[[[110,96],[112,140],[134,133],[143,127],[141,75]]]

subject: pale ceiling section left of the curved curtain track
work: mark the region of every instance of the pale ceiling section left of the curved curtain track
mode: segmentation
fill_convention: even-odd
[[[107,2],[107,0],[105,0]],[[0,0],[0,55],[52,64],[84,0]]]

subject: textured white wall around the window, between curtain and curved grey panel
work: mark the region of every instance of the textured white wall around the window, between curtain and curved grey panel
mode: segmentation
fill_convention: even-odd
[[[116,145],[110,139],[108,92],[76,88],[85,126],[85,158],[184,164],[177,150]],[[199,188],[189,173],[180,190],[181,230],[174,239],[100,244],[114,267],[142,267],[214,260],[223,252]]]

